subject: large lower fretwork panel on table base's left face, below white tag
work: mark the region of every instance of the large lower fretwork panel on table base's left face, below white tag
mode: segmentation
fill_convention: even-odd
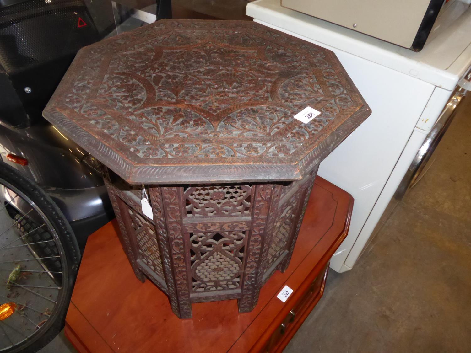
[[[154,231],[154,225],[132,209],[129,209],[131,226],[138,245],[140,259],[149,266],[156,275],[164,278],[162,260]]]

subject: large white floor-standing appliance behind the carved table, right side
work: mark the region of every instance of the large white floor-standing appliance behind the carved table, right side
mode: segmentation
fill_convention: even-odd
[[[418,53],[283,8],[280,0],[251,2],[246,14],[333,50],[372,110],[318,171],[355,198],[349,235],[330,263],[337,272],[348,271],[441,112],[459,103],[455,89],[459,95],[471,89],[463,79],[471,65],[471,9]]]

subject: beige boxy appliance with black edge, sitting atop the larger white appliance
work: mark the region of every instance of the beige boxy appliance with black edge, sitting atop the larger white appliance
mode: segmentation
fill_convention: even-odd
[[[440,17],[460,16],[470,1],[281,0],[281,6],[420,51],[430,32],[450,24]]]

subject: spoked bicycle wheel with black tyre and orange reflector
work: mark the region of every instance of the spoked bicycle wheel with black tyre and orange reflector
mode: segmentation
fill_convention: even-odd
[[[0,201],[0,352],[36,352],[64,326],[80,251],[56,204],[3,162]]]

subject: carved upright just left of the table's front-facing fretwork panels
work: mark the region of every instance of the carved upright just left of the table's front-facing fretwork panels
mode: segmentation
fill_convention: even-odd
[[[179,187],[162,187],[162,200],[167,225],[171,265],[181,319],[191,318],[190,290],[188,288],[187,266],[185,259],[185,240],[182,231],[183,205]]]

